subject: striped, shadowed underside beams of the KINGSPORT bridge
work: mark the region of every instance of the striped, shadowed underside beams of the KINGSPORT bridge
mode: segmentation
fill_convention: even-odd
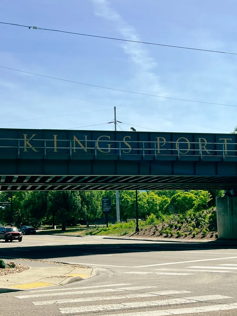
[[[48,190],[221,190],[237,187],[237,176],[7,175],[1,191]]]

